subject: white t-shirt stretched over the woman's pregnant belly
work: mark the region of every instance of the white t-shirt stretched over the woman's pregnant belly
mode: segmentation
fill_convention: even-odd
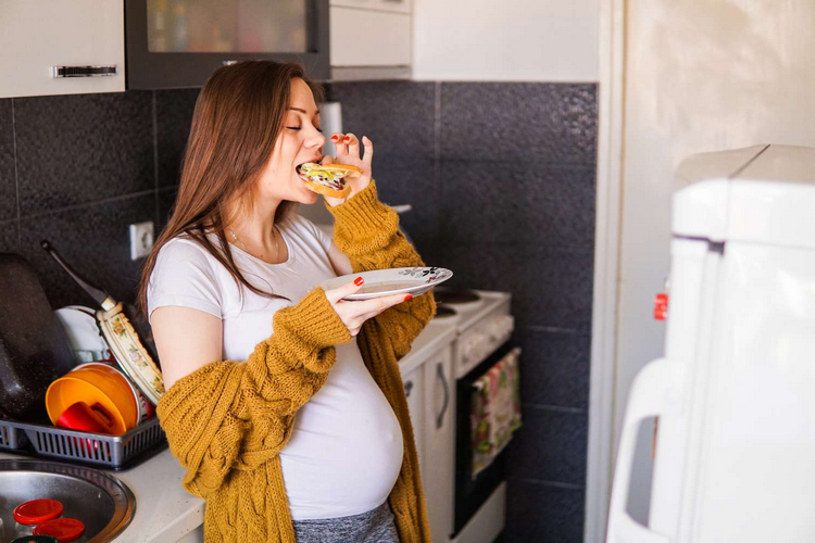
[[[253,286],[291,300],[238,289],[226,268],[196,241],[176,238],[159,252],[150,277],[148,314],[192,307],[222,319],[224,359],[246,361],[272,332],[272,317],[318,282],[336,277],[331,240],[302,217],[280,225],[289,258],[267,264],[230,245]],[[210,238],[217,247],[217,237]],[[242,303],[241,303],[242,291]],[[325,386],[297,413],[280,463],[294,520],[356,515],[385,503],[402,466],[402,432],[368,372],[356,341],[337,345]]]

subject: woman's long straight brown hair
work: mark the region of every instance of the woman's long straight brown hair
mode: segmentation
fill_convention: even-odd
[[[147,313],[147,291],[159,251],[173,238],[187,235],[224,265],[238,286],[264,292],[240,273],[233,258],[224,227],[227,203],[234,198],[248,200],[274,149],[291,99],[291,81],[303,79],[315,101],[323,88],[305,76],[293,62],[243,61],[216,70],[196,101],[187,148],[181,160],[181,180],[173,214],[148,255],[139,282],[139,310]],[[275,223],[285,220],[297,204],[283,202]],[[215,233],[215,247],[206,237]]]

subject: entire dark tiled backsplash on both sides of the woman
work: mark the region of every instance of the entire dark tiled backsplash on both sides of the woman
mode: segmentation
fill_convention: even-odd
[[[342,83],[343,125],[376,149],[384,201],[460,287],[509,290],[524,348],[507,541],[582,540],[597,87]],[[0,251],[28,257],[55,306],[92,301],[39,248],[133,300],[130,223],[161,227],[197,89],[0,100]]]

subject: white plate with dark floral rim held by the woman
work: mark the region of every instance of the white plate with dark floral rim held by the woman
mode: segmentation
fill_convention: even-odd
[[[362,272],[335,277],[319,283],[324,290],[336,289],[362,277],[365,282],[362,290],[351,294],[343,300],[359,301],[381,298],[390,294],[424,294],[437,285],[441,285],[451,277],[453,273],[447,268],[392,268],[376,269],[374,272]]]

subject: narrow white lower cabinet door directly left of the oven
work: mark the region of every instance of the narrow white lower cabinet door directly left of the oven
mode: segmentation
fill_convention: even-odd
[[[455,383],[450,348],[424,365],[425,378],[425,496],[434,542],[450,539],[453,526]]]

